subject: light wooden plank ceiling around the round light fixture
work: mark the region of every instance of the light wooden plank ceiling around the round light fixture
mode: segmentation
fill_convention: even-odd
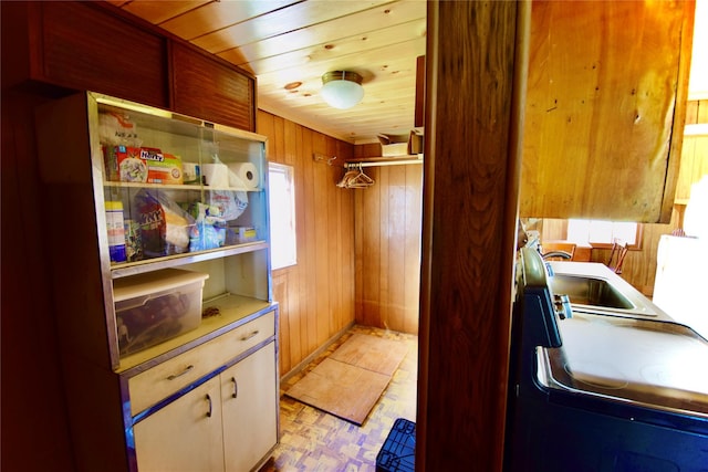
[[[111,3],[254,74],[259,108],[355,144],[414,126],[423,0]],[[346,111],[320,97],[322,75],[337,70],[364,77],[364,99]]]

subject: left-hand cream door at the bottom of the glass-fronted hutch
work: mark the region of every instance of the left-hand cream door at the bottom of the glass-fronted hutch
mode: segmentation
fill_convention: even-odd
[[[134,427],[139,472],[223,470],[219,377]]]

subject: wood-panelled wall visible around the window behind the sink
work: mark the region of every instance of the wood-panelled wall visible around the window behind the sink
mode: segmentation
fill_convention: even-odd
[[[708,101],[693,101],[687,104],[686,124],[708,124]],[[681,161],[676,183],[676,200],[687,200],[690,186],[708,176],[708,136],[686,136],[681,148]],[[656,252],[662,234],[670,234],[680,228],[684,207],[674,207],[671,221],[668,224],[644,224],[641,251],[629,251],[624,261],[622,277],[647,296],[654,294],[656,277]],[[564,220],[544,220],[542,239],[564,239],[562,222]],[[594,262],[606,262],[610,250],[593,249]]]

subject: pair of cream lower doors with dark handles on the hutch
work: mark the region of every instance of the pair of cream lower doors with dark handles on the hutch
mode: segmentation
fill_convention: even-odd
[[[274,343],[134,427],[140,472],[248,472],[277,443]]]

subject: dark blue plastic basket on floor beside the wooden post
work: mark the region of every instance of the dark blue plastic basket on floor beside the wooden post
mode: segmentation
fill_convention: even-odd
[[[416,423],[404,418],[394,426],[376,455],[376,472],[415,472]]]

